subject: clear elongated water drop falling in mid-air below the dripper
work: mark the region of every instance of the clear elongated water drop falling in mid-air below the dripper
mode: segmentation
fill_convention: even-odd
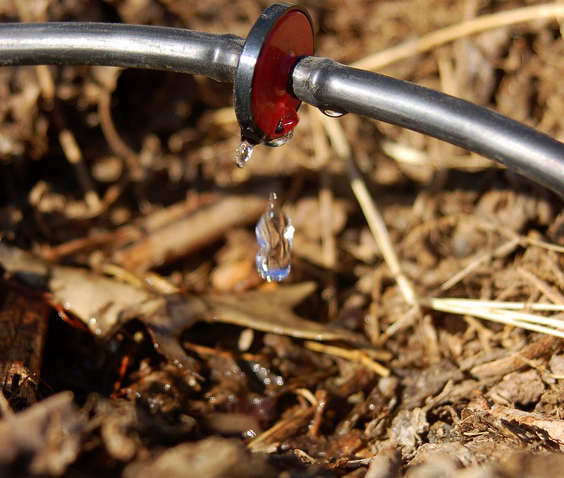
[[[275,200],[276,194],[271,193],[269,207],[255,228],[259,243],[257,271],[267,282],[280,282],[290,274],[292,239],[295,232],[290,217],[276,208]]]

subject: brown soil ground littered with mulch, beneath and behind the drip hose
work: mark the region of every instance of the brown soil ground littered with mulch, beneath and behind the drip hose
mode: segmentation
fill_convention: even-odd
[[[353,64],[538,2],[303,4],[317,54]],[[245,37],[266,6],[12,0],[0,20]],[[374,68],[563,141],[563,28],[532,17]],[[307,105],[239,169],[232,95],[161,71],[0,68],[0,474],[560,474],[562,199],[359,116],[329,119],[343,154]],[[271,192],[296,230],[281,284],[255,270]]]

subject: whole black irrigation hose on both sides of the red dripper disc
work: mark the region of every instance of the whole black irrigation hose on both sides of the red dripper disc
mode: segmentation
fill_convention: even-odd
[[[178,71],[233,81],[243,39],[106,23],[0,25],[0,66],[82,64]],[[564,144],[476,104],[336,61],[306,56],[290,88],[299,100],[434,136],[564,196]]]

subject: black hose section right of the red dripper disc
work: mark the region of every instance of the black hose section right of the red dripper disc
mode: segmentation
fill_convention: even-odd
[[[477,104],[414,83],[309,56],[293,72],[303,102],[439,138],[564,196],[564,144]]]

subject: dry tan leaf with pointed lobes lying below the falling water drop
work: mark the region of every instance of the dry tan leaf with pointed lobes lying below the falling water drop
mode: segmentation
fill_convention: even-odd
[[[311,340],[360,340],[347,330],[307,321],[291,311],[312,294],[312,282],[267,292],[205,297],[158,294],[90,270],[49,265],[4,242],[0,242],[0,265],[30,285],[47,285],[54,301],[78,317],[94,335],[104,337],[131,318],[139,318],[149,328],[159,352],[188,370],[192,369],[192,359],[177,337],[200,320]]]

